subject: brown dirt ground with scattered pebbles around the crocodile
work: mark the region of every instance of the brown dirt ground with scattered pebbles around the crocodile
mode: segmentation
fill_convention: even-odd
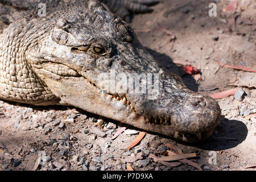
[[[216,17],[208,15],[210,2],[217,4]],[[234,96],[217,100],[221,124],[207,141],[186,144],[147,133],[126,150],[141,130],[73,107],[0,101],[0,170],[32,170],[38,154],[42,158],[37,170],[115,171],[126,170],[127,164],[134,170],[198,170],[184,163],[168,167],[154,162],[151,154],[164,156],[170,150],[166,143],[184,154],[195,152],[193,162],[203,170],[255,170],[256,73],[216,61],[256,69],[256,1],[237,1],[235,11],[228,10],[230,2],[161,0],[153,13],[135,15],[131,23],[143,46],[189,89],[205,94],[234,88],[246,92],[242,101]],[[200,69],[201,80],[181,75],[177,60]],[[123,126],[125,132],[112,140]],[[95,128],[105,136],[93,134]],[[136,162],[125,161],[140,155]],[[213,158],[216,163],[210,164]]]

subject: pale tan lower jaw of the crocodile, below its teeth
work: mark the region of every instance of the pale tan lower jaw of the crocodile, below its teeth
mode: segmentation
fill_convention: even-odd
[[[85,78],[69,77],[58,81],[53,78],[45,78],[44,81],[52,92],[61,99],[60,104],[73,105],[90,113],[102,115],[142,130],[166,135],[184,142],[195,143],[200,141],[195,134],[177,133],[172,125],[146,122],[144,116],[136,114],[127,105],[123,105],[122,101],[117,104],[117,101],[113,101],[111,98],[106,100],[105,94],[98,92],[97,88]],[[201,133],[201,140],[208,138],[212,133],[213,129]]]

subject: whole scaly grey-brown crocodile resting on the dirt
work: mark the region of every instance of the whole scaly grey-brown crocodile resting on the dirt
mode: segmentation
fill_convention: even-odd
[[[209,138],[220,106],[164,69],[123,20],[155,1],[113,1],[0,0],[0,99],[72,105],[188,143]]]

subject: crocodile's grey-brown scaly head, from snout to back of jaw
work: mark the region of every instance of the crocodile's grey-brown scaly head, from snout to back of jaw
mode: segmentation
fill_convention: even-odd
[[[27,63],[61,104],[185,142],[212,134],[221,114],[216,101],[161,67],[104,5],[67,8],[57,20],[46,17],[33,27],[42,36],[26,52]]]

